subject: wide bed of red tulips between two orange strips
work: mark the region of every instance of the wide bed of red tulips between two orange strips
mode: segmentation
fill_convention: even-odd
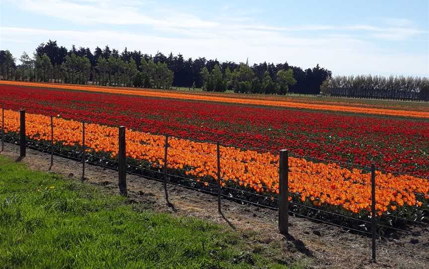
[[[51,85],[52,86],[52,85]],[[0,84],[8,109],[429,177],[429,122]],[[367,108],[370,112],[370,109]],[[306,157],[307,158],[307,157]],[[308,159],[308,158],[307,158]]]

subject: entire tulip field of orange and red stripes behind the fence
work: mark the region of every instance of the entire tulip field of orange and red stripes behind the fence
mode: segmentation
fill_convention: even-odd
[[[286,148],[290,201],[360,216],[370,211],[374,163],[378,215],[428,221],[428,111],[154,92],[0,82],[4,131],[19,132],[24,108],[29,139],[49,142],[55,116],[55,144],[70,148],[81,146],[85,121],[86,152],[114,160],[126,126],[127,157],[154,171],[169,135],[167,168],[204,186],[216,183],[219,142],[221,186],[274,202]]]

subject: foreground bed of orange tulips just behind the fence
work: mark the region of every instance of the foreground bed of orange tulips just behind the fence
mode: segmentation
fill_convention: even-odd
[[[19,113],[5,110],[5,132],[19,132]],[[36,140],[51,140],[50,118],[26,115],[26,135]],[[65,146],[81,145],[82,125],[79,122],[54,118],[54,139]],[[164,165],[165,137],[126,130],[126,155],[145,161],[153,167]],[[216,145],[170,137],[168,141],[169,169],[184,170],[184,174],[199,181],[216,180]],[[87,124],[85,145],[88,151],[118,154],[118,129]],[[220,146],[221,185],[239,185],[258,193],[275,196],[279,193],[279,156],[271,152],[242,150]],[[369,210],[371,204],[370,173],[342,168],[336,163],[314,163],[289,157],[289,191],[316,205],[330,204],[358,213]],[[205,178],[203,180],[202,178]],[[395,176],[376,171],[376,210],[378,214],[397,208],[421,206],[416,194],[429,199],[429,181],[408,175]]]

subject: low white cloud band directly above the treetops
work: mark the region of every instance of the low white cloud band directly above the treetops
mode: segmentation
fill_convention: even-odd
[[[223,37],[157,37],[116,31],[57,31],[32,28],[0,27],[2,39],[14,44],[12,53],[16,57],[24,50],[34,48],[47,39],[57,40],[68,48],[72,44],[96,46],[108,44],[110,48],[122,50],[141,50],[155,54],[157,51],[173,54],[182,53],[185,57],[217,58],[219,61],[233,60],[249,63],[287,62],[301,67],[314,67],[320,64],[330,68],[335,74],[373,73],[429,75],[429,62],[425,55],[391,55],[370,42],[348,37],[294,38],[278,32],[263,32],[261,36],[237,31],[232,36]],[[24,43],[23,43],[24,42]],[[3,47],[3,46],[1,46]],[[15,51],[16,50],[16,51]],[[28,52],[28,51],[27,51]]]

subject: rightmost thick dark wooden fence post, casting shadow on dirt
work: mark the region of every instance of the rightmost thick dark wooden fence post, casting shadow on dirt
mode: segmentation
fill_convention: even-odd
[[[280,150],[280,167],[279,167],[279,231],[283,235],[288,234],[289,224],[289,164],[288,151]]]

